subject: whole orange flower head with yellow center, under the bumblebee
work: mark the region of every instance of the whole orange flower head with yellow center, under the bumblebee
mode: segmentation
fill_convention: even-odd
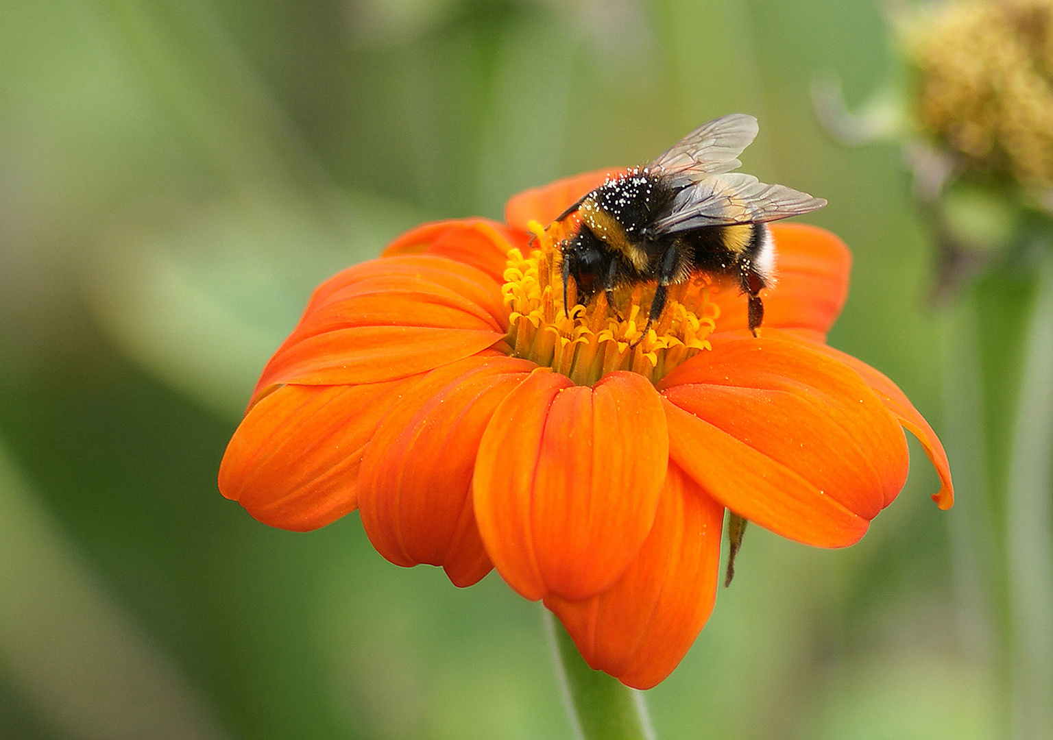
[[[420,226],[324,282],[263,371],[220,489],[274,526],[358,508],[398,565],[457,585],[492,567],[541,599],[585,660],[647,688],[709,618],[724,509],[784,537],[857,541],[907,478],[901,426],[947,457],[906,396],[824,344],[848,249],[772,227],[760,337],[702,279],[639,343],[651,288],[564,311],[559,225],[596,173],[513,198],[509,225]],[[532,237],[531,229],[534,235]],[[629,309],[624,311],[624,306]]]

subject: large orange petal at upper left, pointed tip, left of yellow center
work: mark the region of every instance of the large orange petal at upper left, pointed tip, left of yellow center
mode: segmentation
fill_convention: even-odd
[[[393,257],[320,285],[300,324],[267,363],[255,398],[279,383],[359,384],[404,378],[500,341],[500,288],[469,265]]]

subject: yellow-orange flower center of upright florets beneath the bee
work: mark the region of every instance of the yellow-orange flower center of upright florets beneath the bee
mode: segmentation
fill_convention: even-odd
[[[673,285],[658,320],[641,337],[655,283],[615,291],[616,306],[602,291],[582,305],[572,280],[570,309],[563,307],[563,279],[557,245],[571,236],[562,223],[548,231],[531,222],[538,248],[523,256],[509,252],[504,304],[511,312],[508,343],[514,357],[532,360],[592,385],[608,373],[632,371],[657,383],[667,373],[703,349],[716,327],[719,306],[709,300],[704,278]]]

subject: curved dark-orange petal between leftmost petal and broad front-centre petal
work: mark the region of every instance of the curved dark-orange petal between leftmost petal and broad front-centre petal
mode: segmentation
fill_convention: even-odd
[[[473,357],[402,391],[359,478],[362,525],[377,552],[398,565],[442,565],[459,586],[490,572],[471,496],[476,452],[494,409],[535,366]]]

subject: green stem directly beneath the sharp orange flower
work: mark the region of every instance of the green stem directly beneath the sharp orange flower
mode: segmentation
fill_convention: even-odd
[[[549,645],[563,697],[581,740],[654,740],[643,695],[602,671],[593,671],[549,609]]]

